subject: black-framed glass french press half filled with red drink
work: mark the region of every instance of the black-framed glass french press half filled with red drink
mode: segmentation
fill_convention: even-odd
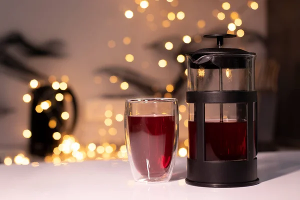
[[[238,187],[258,184],[255,53],[222,48],[188,53],[187,184]]]

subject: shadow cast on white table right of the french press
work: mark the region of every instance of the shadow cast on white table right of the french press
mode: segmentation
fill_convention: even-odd
[[[300,157],[296,152],[277,152],[265,156],[258,154],[258,178],[260,182],[300,170]]]

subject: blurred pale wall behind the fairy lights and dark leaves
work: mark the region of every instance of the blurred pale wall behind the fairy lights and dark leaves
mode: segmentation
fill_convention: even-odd
[[[69,76],[69,85],[75,90],[79,98],[79,123],[74,133],[83,143],[98,142],[100,136],[97,129],[103,126],[102,121],[87,121],[84,109],[89,100],[95,99],[102,93],[132,93],[134,88],[126,91],[112,84],[108,77],[102,77],[100,84],[93,82],[92,71],[106,64],[125,65],[140,73],[149,75],[161,85],[173,80],[177,75],[179,66],[175,61],[169,61],[165,68],[160,68],[157,61],[163,56],[144,45],[153,40],[177,34],[207,33],[217,27],[226,29],[229,23],[230,11],[236,10],[241,5],[246,6],[246,1],[228,0],[231,3],[229,10],[223,10],[226,18],[223,21],[212,16],[213,9],[221,8],[218,0],[179,0],[177,7],[172,7],[166,0],[149,0],[149,7],[144,13],[136,11],[134,0],[3,0],[0,3],[0,35],[5,35],[10,30],[19,30],[32,42],[41,43],[48,39],[60,38],[65,42],[65,58],[26,58],[24,61],[32,68],[47,75]],[[265,35],[266,11],[265,2],[258,1],[259,8],[252,10],[248,7],[240,12],[243,20],[242,28],[256,30]],[[124,10],[134,11],[134,17],[124,17]],[[171,26],[163,28],[162,17],[159,13],[166,11],[184,11],[183,20],[174,20]],[[154,15],[157,30],[151,31],[146,21],[146,14]],[[206,26],[197,28],[197,20],[204,19]],[[122,44],[124,36],[131,37],[129,45]],[[115,40],[116,47],[108,48],[107,41]],[[176,44],[174,44],[176,45]],[[251,48],[251,47],[249,47]],[[261,49],[249,49],[262,51]],[[134,55],[132,63],[126,62],[127,53]],[[140,67],[142,61],[150,62],[150,67]],[[0,103],[16,109],[13,114],[0,118],[0,145],[25,145],[26,139],[22,137],[22,130],[28,128],[29,105],[22,102],[22,95],[28,91],[27,85],[0,73]],[[183,94],[184,95],[184,94]],[[122,106],[116,110],[122,113]],[[185,116],[186,117],[186,116]],[[182,122],[182,121],[181,121]],[[123,122],[114,124],[118,129],[116,136],[106,135],[104,140],[123,141]],[[186,137],[186,128],[180,124],[180,135]],[[104,141],[103,139],[101,142]]]

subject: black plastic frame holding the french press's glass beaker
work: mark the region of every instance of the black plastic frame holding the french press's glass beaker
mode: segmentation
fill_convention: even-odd
[[[196,159],[187,158],[185,182],[205,187],[240,187],[259,183],[257,178],[257,135],[253,135],[253,103],[256,91],[187,91],[186,102],[194,103],[196,132]],[[205,103],[246,103],[247,159],[232,161],[205,161],[204,123]],[[257,127],[257,103],[255,106]],[[256,133],[256,131],[255,131]],[[255,156],[254,156],[255,145]],[[253,158],[254,157],[254,158]]]

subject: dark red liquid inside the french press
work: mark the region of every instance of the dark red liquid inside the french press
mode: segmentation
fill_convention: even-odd
[[[196,159],[196,122],[188,121],[189,157]],[[247,159],[247,122],[205,122],[205,160]]]

